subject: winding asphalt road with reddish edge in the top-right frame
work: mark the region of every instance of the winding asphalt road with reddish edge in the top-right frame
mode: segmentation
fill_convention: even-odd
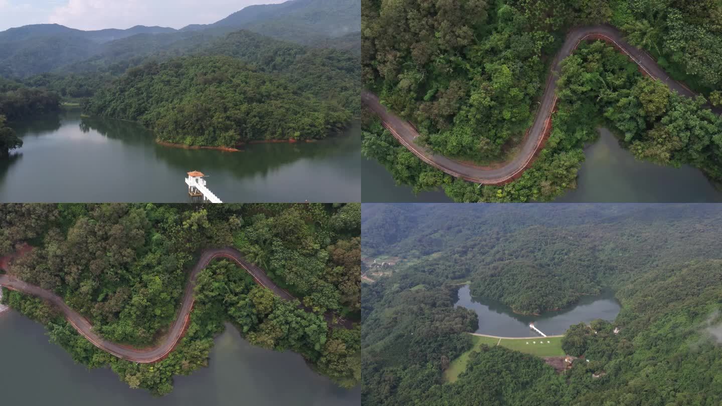
[[[408,121],[389,112],[379,103],[378,96],[371,92],[364,91],[362,92],[361,99],[370,111],[373,111],[373,113],[379,116],[386,129],[391,131],[393,137],[396,137],[401,144],[404,144],[404,147],[414,152],[414,155],[417,155],[417,157],[425,163],[443,170],[445,173],[456,178],[463,178],[466,181],[501,185],[521,176],[521,173],[523,173],[526,168],[529,168],[529,165],[536,156],[536,152],[543,147],[544,134],[547,126],[551,125],[550,116],[554,110],[554,105],[557,103],[556,90],[557,77],[560,72],[560,61],[569,56],[583,40],[604,40],[607,43],[611,43],[638,64],[643,74],[661,80],[670,89],[677,90],[680,95],[687,97],[696,96],[695,92],[692,92],[692,90],[682,85],[682,83],[670,79],[669,74],[661,69],[652,56],[623,40],[622,33],[620,33],[619,30],[608,25],[594,25],[578,27],[567,34],[564,45],[552,61],[544,95],[542,95],[541,100],[539,100],[539,110],[536,111],[536,117],[534,117],[534,124],[531,125],[531,128],[527,132],[516,157],[496,168],[474,165],[473,163],[453,160],[443,155],[433,153],[427,147],[422,147],[414,142],[414,139],[419,137],[418,131],[414,129]],[[715,109],[717,113],[720,112],[719,110],[720,109]]]

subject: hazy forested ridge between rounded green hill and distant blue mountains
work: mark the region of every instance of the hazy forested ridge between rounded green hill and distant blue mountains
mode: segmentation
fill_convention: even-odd
[[[253,70],[276,74],[354,115],[360,111],[360,67],[357,56],[331,48],[309,48],[240,30],[223,35],[207,33],[135,35],[115,41],[113,48],[87,61],[66,66],[67,72],[23,79],[27,86],[44,87],[69,98],[88,98],[109,87],[127,69],[144,62],[167,61],[184,55],[232,56]],[[360,44],[358,37],[355,43]]]

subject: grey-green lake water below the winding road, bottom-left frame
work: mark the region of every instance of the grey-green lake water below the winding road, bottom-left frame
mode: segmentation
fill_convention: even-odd
[[[227,326],[208,368],[176,376],[173,392],[152,397],[130,389],[110,369],[88,370],[48,342],[42,325],[15,311],[0,315],[0,396],[7,405],[357,406],[360,389],[339,388],[295,353],[248,344]]]

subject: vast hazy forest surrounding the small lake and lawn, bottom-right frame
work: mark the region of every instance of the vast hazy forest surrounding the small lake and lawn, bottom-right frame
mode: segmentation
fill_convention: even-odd
[[[362,404],[722,402],[716,205],[503,206],[364,205],[363,256],[409,265],[362,286]],[[444,369],[477,329],[472,311],[453,306],[467,280],[474,295],[521,312],[600,289],[613,290],[622,311],[613,324],[570,326],[562,347],[591,362],[575,360],[563,376],[532,355],[482,345],[449,384]]]

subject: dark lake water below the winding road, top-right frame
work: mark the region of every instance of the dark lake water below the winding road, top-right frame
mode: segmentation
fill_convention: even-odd
[[[584,151],[577,189],[568,190],[557,202],[722,202],[722,191],[700,170],[637,160],[609,130],[599,132],[599,139]],[[396,186],[383,165],[364,161],[363,202],[451,202],[441,189],[414,196],[410,186]],[[372,174],[368,179],[367,173]]]

